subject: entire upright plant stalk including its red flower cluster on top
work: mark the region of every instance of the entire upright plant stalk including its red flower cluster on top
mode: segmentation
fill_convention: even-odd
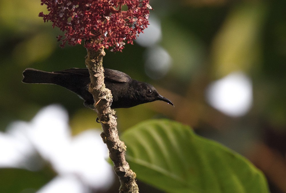
[[[149,10],[152,9],[149,0],[41,0],[41,5],[46,5],[49,13],[41,12],[39,17],[63,31],[64,35],[58,36],[62,47],[65,43],[84,42],[88,52],[85,63],[91,81],[89,91],[101,121],[101,137],[120,179],[120,192],[138,192],[136,174],[125,160],[126,146],[118,137],[115,111],[110,108],[112,94],[104,84],[102,58],[104,48],[122,51],[126,43],[133,44],[143,33],[149,25]]]

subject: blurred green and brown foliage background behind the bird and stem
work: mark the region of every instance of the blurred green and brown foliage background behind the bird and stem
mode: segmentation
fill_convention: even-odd
[[[272,192],[286,192],[286,1],[151,0],[150,5],[149,28],[156,29],[122,53],[106,50],[104,67],[151,83],[175,108],[152,102],[118,109],[119,131],[150,118],[190,125],[250,159],[265,173]],[[96,114],[74,93],[21,82],[27,67],[84,68],[86,49],[58,46],[59,29],[37,17],[46,11],[39,0],[1,0],[0,9],[0,130],[15,120],[31,120],[49,104],[67,109],[74,135],[99,127]],[[249,110],[235,116],[214,108],[206,97],[214,81],[233,72],[251,83]],[[0,178],[7,172],[2,170]],[[52,176],[41,175],[39,184]]]

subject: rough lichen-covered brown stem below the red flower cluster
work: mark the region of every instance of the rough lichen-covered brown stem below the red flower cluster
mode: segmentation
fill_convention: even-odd
[[[120,180],[120,192],[138,192],[136,174],[130,169],[125,160],[126,146],[119,140],[116,128],[115,111],[110,108],[112,94],[104,84],[104,69],[102,58],[105,55],[104,49],[98,51],[87,50],[86,66],[90,72],[89,91],[94,97],[94,106],[98,112],[103,132],[101,137],[109,150],[109,157],[114,163],[114,171]]]

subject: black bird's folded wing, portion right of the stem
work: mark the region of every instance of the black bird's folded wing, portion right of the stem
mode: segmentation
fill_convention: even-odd
[[[131,82],[132,79],[124,72],[112,69],[104,69],[104,79],[110,82]]]

